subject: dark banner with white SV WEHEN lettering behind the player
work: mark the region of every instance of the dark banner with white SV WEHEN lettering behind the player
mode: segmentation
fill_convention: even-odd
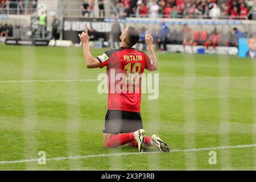
[[[89,35],[92,39],[98,40],[104,38],[109,39],[112,31],[113,22],[104,22],[102,18],[63,18],[63,40],[72,40],[73,43],[79,43],[78,34],[85,30],[85,26],[89,29]],[[123,27],[123,23],[121,23]]]

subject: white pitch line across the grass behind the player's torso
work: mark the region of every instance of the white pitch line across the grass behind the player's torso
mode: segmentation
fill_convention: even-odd
[[[250,76],[234,76],[234,77],[160,77],[160,79],[177,80],[177,79],[221,79],[221,78],[254,78]],[[81,80],[0,80],[0,83],[23,83],[23,82],[87,82],[101,81],[97,79],[81,79]]]

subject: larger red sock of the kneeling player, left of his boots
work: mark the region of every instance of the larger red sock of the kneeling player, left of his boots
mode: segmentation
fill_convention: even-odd
[[[122,146],[123,144],[129,143],[133,140],[134,140],[134,132],[114,135],[114,137],[109,139],[108,147],[115,148],[118,146]]]

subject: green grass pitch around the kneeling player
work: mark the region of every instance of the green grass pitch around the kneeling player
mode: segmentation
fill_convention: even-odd
[[[92,49],[94,56],[104,51]],[[107,94],[99,94],[99,81],[93,80],[106,69],[87,69],[81,48],[0,45],[0,52],[1,162],[37,159],[38,151],[45,151],[47,159],[137,152],[127,146],[102,147]],[[147,135],[157,132],[172,149],[181,151],[47,160],[45,165],[0,162],[0,169],[255,169],[255,147],[216,149],[216,165],[208,162],[210,150],[182,150],[256,143],[256,60],[175,53],[157,56],[159,99],[147,100],[143,94],[144,129]]]

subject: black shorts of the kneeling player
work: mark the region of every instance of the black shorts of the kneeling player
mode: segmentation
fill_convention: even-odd
[[[103,133],[130,133],[143,129],[141,113],[125,110],[108,110]]]

